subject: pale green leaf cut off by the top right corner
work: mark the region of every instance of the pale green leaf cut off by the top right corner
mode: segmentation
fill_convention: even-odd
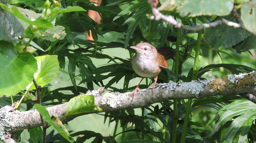
[[[241,19],[245,28],[256,35],[256,0],[251,0],[242,5]]]

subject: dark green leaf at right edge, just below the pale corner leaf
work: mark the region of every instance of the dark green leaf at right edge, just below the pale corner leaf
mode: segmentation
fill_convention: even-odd
[[[246,52],[250,49],[256,49],[256,36],[252,35],[248,37],[236,46],[233,46],[233,48],[236,49],[238,53]]]

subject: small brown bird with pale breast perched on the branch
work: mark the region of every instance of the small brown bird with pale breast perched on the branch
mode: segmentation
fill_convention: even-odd
[[[136,55],[132,58],[133,70],[141,77],[154,77],[154,83],[149,87],[154,88],[161,68],[168,68],[167,60],[173,58],[175,51],[171,47],[162,47],[156,50],[150,43],[139,43],[131,48],[136,50]],[[139,84],[132,94],[139,91]]]

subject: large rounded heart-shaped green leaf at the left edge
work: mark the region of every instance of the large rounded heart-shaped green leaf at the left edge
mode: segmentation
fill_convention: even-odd
[[[12,95],[25,89],[37,71],[32,54],[16,54],[12,43],[0,41],[0,95]]]

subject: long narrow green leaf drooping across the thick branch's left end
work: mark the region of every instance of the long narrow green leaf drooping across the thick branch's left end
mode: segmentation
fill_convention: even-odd
[[[57,132],[60,133],[61,136],[63,136],[65,139],[67,139],[70,143],[74,142],[74,139],[69,136],[67,132],[64,131],[64,129],[61,129],[58,125],[56,125],[55,120],[51,119],[49,112],[43,107],[42,105],[35,104],[34,108],[38,110],[38,112],[43,117],[43,120],[47,122],[49,125],[53,126],[54,129],[57,130]]]

